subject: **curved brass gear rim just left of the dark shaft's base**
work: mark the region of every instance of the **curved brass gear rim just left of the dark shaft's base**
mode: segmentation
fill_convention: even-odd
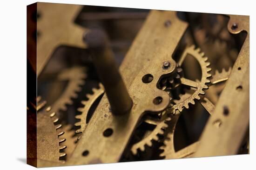
[[[88,125],[88,112],[90,108],[93,106],[94,102],[99,99],[102,94],[104,94],[104,87],[100,83],[99,88],[93,88],[93,94],[87,94],[86,97],[88,98],[87,101],[81,101],[81,103],[84,105],[84,107],[78,108],[78,111],[81,112],[81,114],[76,115],[75,118],[79,121],[75,123],[75,126],[80,126],[79,129],[75,131],[75,133],[82,133],[86,126]],[[78,139],[81,136],[78,137]]]

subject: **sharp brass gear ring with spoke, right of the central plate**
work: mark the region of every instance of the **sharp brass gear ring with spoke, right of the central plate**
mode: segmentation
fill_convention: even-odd
[[[182,109],[189,108],[190,104],[195,104],[194,100],[200,100],[200,94],[205,94],[204,89],[208,88],[208,83],[210,83],[209,77],[211,77],[211,74],[209,73],[211,69],[209,68],[210,63],[207,62],[208,58],[204,56],[204,53],[200,51],[199,48],[195,49],[195,45],[190,46],[189,48],[186,48],[185,51],[182,54],[182,57],[180,58],[178,65],[181,66],[187,55],[191,55],[194,57],[198,63],[201,66],[202,70],[202,77],[200,82],[195,82],[189,79],[186,79],[184,77],[181,78],[181,83],[183,85],[196,88],[195,92],[190,95],[188,98],[186,98],[183,101],[180,101],[179,103],[175,104],[174,106],[168,108],[172,110],[172,113],[175,114],[177,111],[181,112]]]

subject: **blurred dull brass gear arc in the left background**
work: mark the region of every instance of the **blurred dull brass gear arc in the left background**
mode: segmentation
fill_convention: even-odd
[[[72,67],[63,70],[57,77],[58,81],[68,81],[67,87],[64,92],[52,105],[52,110],[58,112],[60,110],[67,110],[66,105],[73,103],[72,98],[77,97],[77,93],[81,91],[81,86],[85,83],[87,77],[86,68],[84,67]]]

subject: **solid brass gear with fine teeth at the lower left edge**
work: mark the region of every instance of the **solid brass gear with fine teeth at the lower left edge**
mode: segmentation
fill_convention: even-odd
[[[47,107],[37,113],[37,158],[52,162],[64,163],[62,160],[66,156],[64,150],[66,141],[61,138],[64,131],[59,124],[59,118],[55,112],[51,112],[51,107]]]

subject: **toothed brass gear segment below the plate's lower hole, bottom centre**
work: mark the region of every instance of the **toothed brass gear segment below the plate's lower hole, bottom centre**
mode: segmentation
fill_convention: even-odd
[[[131,152],[133,155],[136,155],[138,151],[145,151],[146,146],[151,147],[153,145],[152,141],[158,141],[159,136],[163,135],[165,129],[168,127],[167,122],[171,120],[170,117],[167,117],[165,120],[162,120],[159,124],[155,126],[155,129],[144,139],[142,139],[140,142],[134,144],[131,148]]]

